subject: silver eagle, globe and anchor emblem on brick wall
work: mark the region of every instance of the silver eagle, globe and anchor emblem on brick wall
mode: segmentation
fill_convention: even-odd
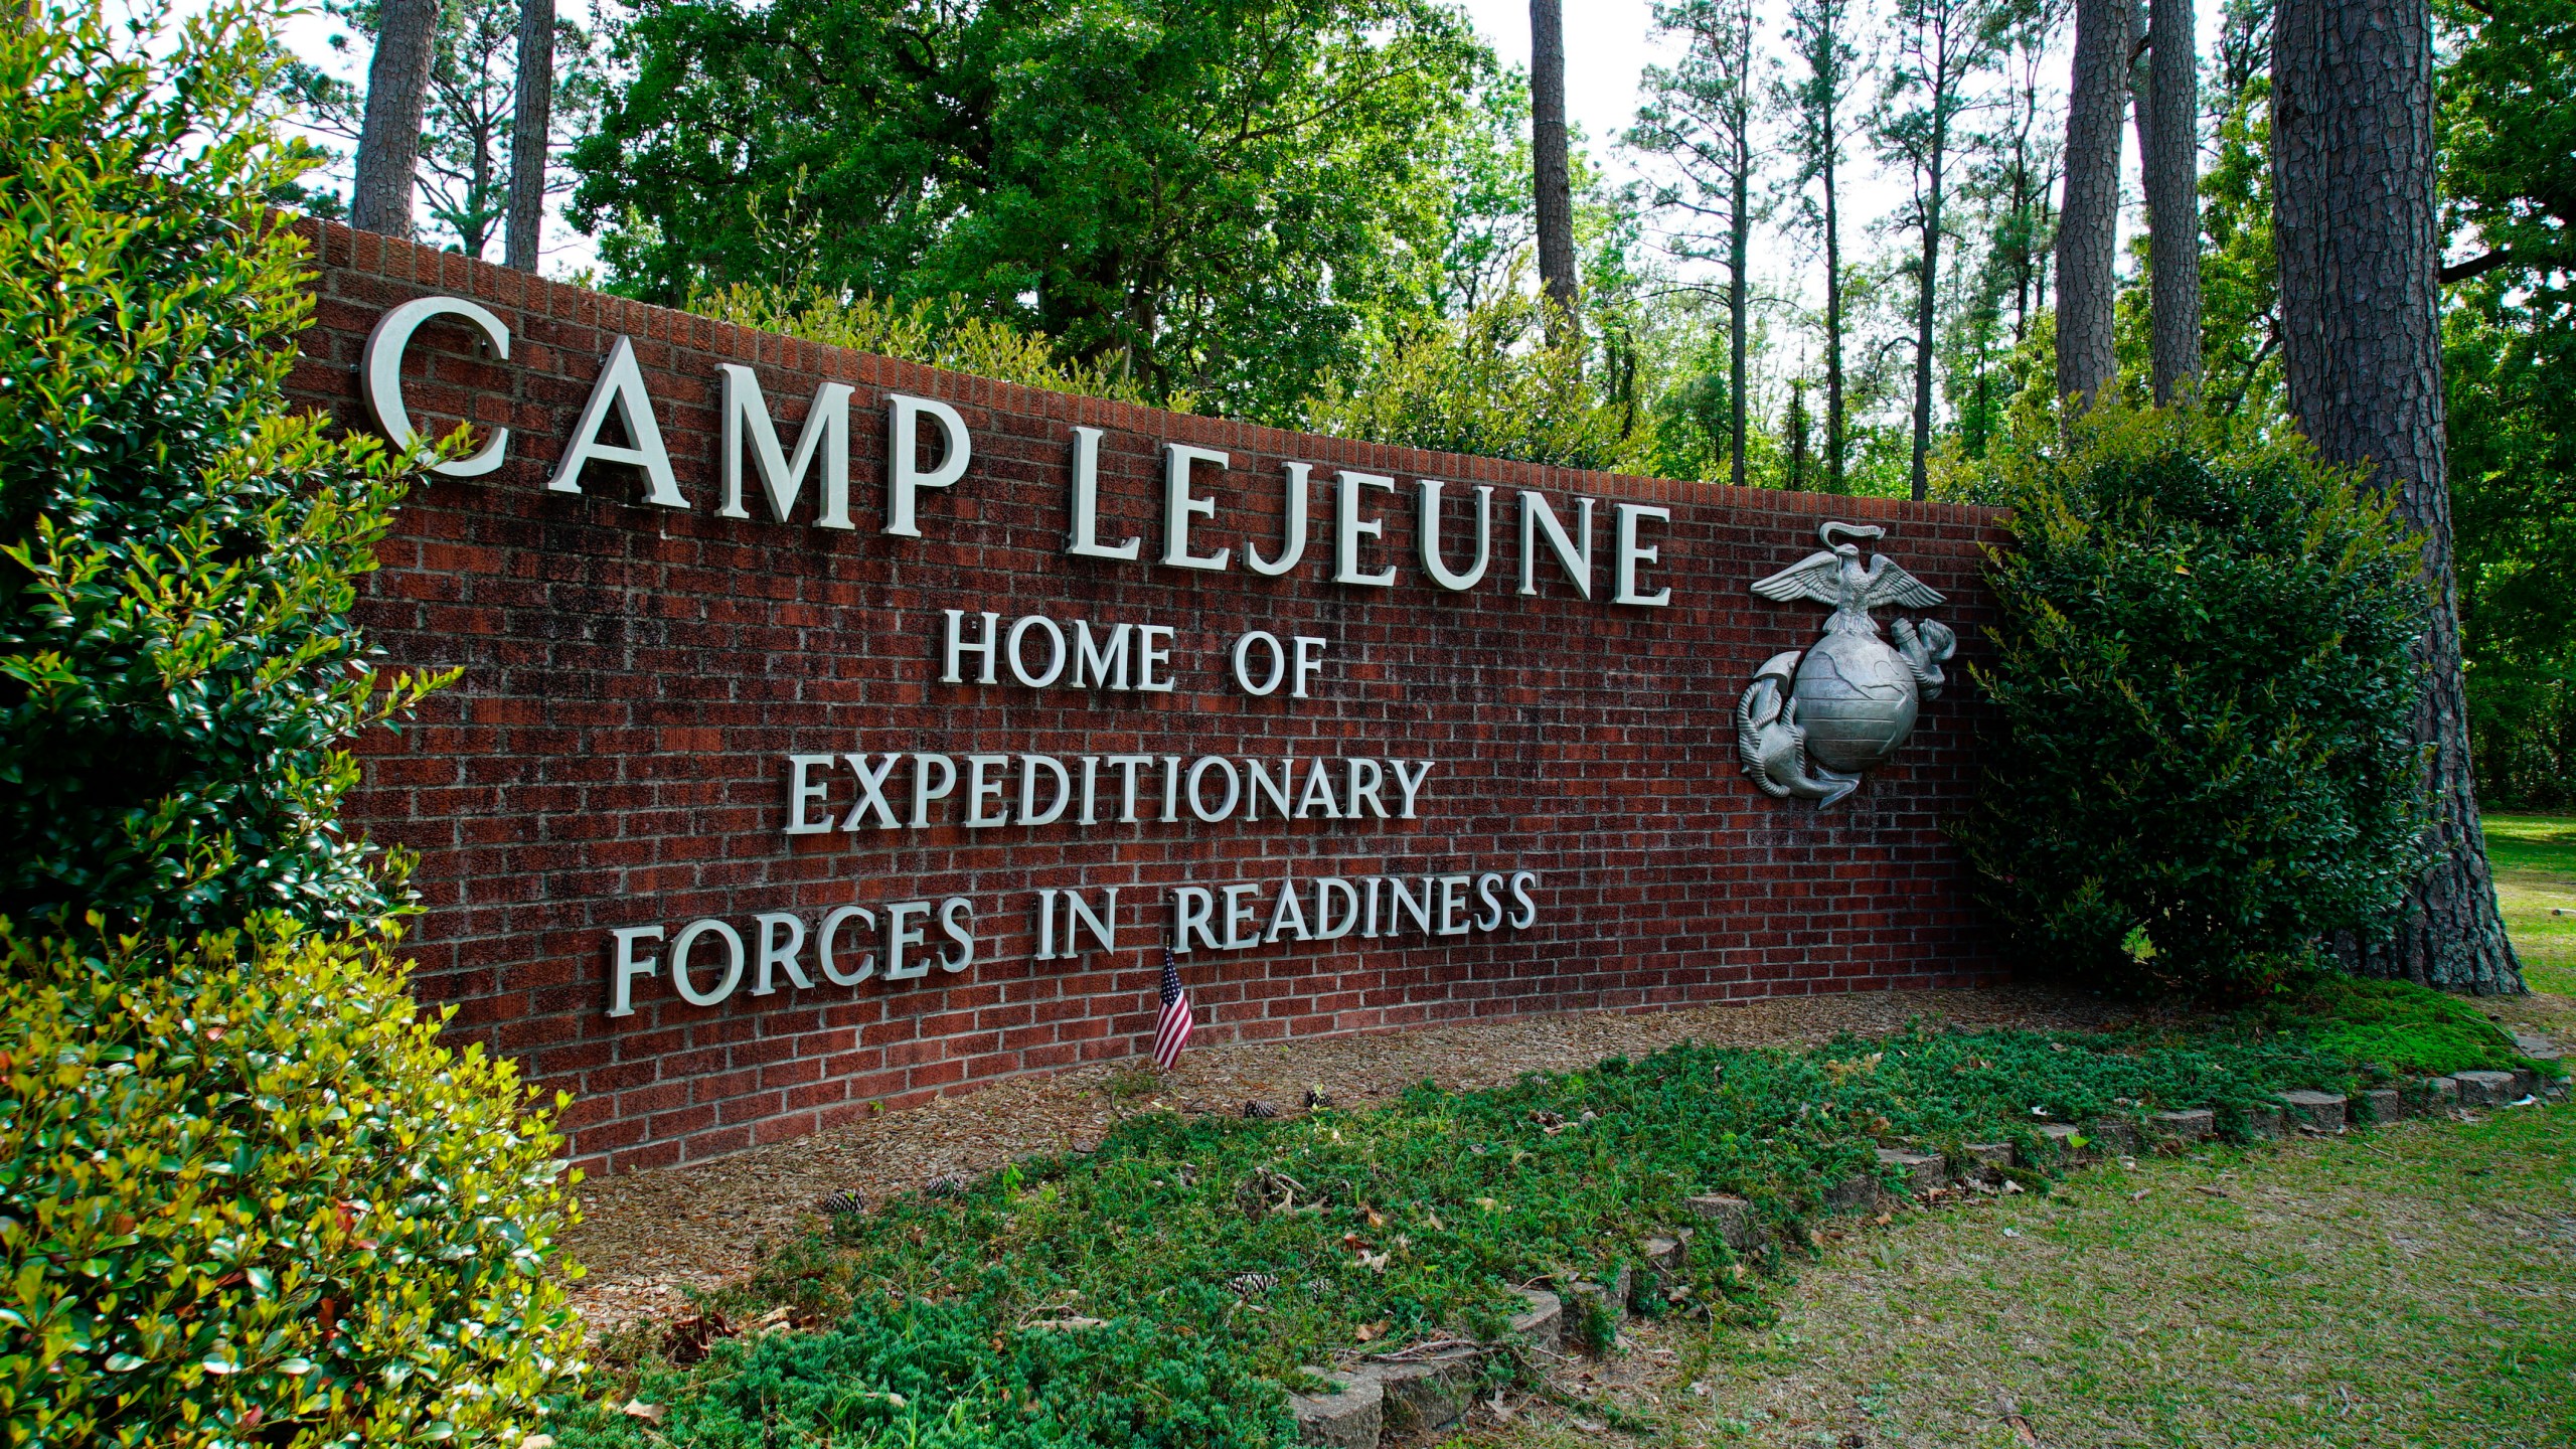
[[[1834,804],[1906,743],[1922,701],[1940,699],[1940,665],[1958,652],[1958,634],[1932,619],[1896,619],[1896,645],[1878,634],[1870,608],[1942,601],[1886,554],[1860,562],[1850,539],[1880,536],[1878,526],[1821,523],[1824,552],[1754,583],[1762,598],[1834,608],[1816,647],[1772,655],[1736,701],[1736,750],[1762,794]]]

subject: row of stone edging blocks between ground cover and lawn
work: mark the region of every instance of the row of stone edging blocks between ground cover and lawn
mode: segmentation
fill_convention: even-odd
[[[2553,1049],[2524,1042],[2532,1057],[2555,1057]],[[2568,1078],[2548,1080],[2530,1067],[2514,1073],[2455,1073],[2372,1088],[2360,1101],[2326,1091],[2285,1091],[2280,1106],[2246,1111],[2246,1134],[2254,1140],[2280,1140],[2290,1132],[2336,1134],[2349,1127],[2396,1122],[2401,1116],[2439,1116],[2465,1106],[2512,1106],[2524,1098],[2568,1101]],[[2087,1127],[2045,1124],[2040,1137],[2058,1145],[2061,1160],[2097,1160],[2102,1150],[2141,1152],[2146,1147],[2179,1150],[2218,1137],[2218,1114],[2210,1109],[2156,1111],[2143,1119],[2102,1119]],[[1899,1147],[1878,1150],[1878,1173],[1857,1173],[1824,1194],[1824,1212],[1870,1212],[1886,1196],[1886,1178],[1896,1178],[1914,1201],[1940,1201],[1955,1196],[1955,1183],[1989,1186],[2014,1165],[2009,1142],[1971,1142],[1963,1160],[1953,1163],[1942,1152],[1911,1152]],[[1940,1196],[1932,1196],[1940,1194]],[[1690,1212],[1728,1253],[1749,1256],[1762,1245],[1762,1220],[1754,1204],[1741,1196],[1705,1194],[1687,1199]],[[1638,1294],[1662,1294],[1664,1276],[1680,1274],[1690,1256],[1698,1227],[1682,1227],[1674,1238],[1649,1238],[1643,1243],[1643,1274],[1623,1261],[1605,1281],[1561,1284],[1566,1292],[1512,1289],[1528,1310],[1512,1318],[1510,1338],[1479,1343],[1468,1338],[1437,1338],[1391,1354],[1373,1354],[1352,1369],[1306,1369],[1337,1385],[1340,1392],[1288,1395],[1296,1415],[1298,1441],[1329,1449],[1378,1449],[1412,1434],[1430,1434],[1461,1423],[1473,1403],[1476,1379],[1484,1364],[1499,1354],[1540,1351],[1556,1354],[1566,1336],[1566,1299],[1597,1305],[1613,1323],[1625,1318]]]

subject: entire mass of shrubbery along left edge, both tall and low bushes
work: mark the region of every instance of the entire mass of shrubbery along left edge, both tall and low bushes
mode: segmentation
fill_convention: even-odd
[[[0,1426],[518,1444],[580,1351],[559,1137],[335,828],[435,683],[345,616],[417,459],[286,413],[278,13],[162,21],[0,23]]]

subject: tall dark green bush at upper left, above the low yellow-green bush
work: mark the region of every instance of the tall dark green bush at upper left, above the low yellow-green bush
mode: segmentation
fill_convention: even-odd
[[[404,490],[286,413],[312,312],[268,196],[273,21],[165,59],[98,10],[0,26],[0,913],[188,933],[394,908],[332,810],[379,694],[345,611]],[[170,36],[160,36],[165,44]]]

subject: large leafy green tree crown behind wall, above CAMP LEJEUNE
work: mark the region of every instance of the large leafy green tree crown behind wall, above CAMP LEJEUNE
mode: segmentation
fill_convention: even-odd
[[[644,0],[574,147],[618,286],[966,297],[1293,418],[1450,240],[1489,52],[1432,0]]]

